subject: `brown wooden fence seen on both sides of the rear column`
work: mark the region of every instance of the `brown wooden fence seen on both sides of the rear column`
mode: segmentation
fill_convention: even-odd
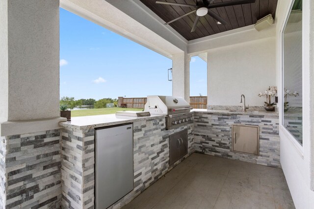
[[[118,97],[118,107],[144,109],[147,97],[125,98]],[[207,109],[207,96],[190,96],[190,105],[194,109]]]

